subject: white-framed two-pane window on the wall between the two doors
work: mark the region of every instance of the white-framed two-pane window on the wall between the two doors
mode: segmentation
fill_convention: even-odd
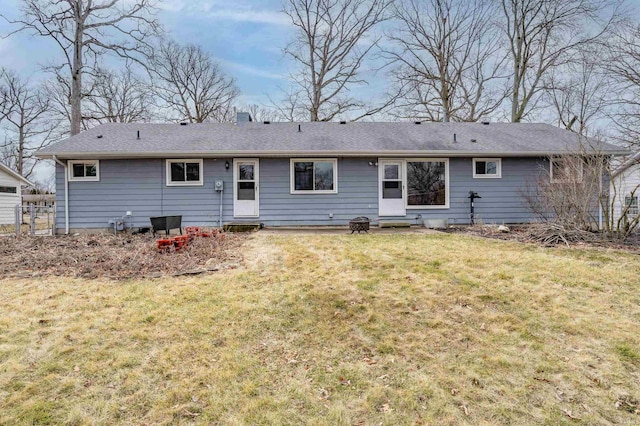
[[[338,160],[292,159],[292,194],[336,194],[338,192]]]

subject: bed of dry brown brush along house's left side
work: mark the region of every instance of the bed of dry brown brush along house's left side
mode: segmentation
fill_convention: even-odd
[[[234,267],[243,234],[197,238],[184,250],[159,251],[150,235],[2,238],[0,279],[42,277],[124,280]]]

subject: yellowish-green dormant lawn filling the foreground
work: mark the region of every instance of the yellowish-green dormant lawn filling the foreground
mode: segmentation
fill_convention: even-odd
[[[197,278],[0,281],[0,424],[637,424],[640,257],[264,236]]]

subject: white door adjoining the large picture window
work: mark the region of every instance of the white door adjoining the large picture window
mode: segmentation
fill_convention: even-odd
[[[405,216],[404,171],[401,160],[378,161],[380,216]]]

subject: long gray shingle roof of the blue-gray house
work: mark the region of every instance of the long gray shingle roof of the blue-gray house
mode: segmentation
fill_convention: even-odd
[[[580,141],[575,133],[531,123],[111,123],[42,149],[38,156],[534,156],[579,152]],[[601,144],[598,150],[626,153],[610,144]]]

